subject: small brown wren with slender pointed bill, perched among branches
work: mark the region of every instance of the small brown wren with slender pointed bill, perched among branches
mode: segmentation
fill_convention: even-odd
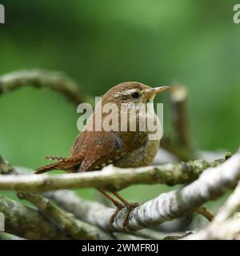
[[[46,157],[51,160],[58,160],[48,166],[39,167],[36,174],[42,174],[50,170],[68,170],[72,172],[85,172],[92,170],[101,170],[103,166],[113,164],[114,166],[128,168],[149,166],[158,152],[160,137],[150,139],[150,134],[156,133],[156,130],[141,129],[142,123],[146,119],[151,120],[157,130],[161,130],[161,124],[158,116],[154,113],[153,104],[149,111],[147,103],[153,102],[154,96],[161,93],[163,90],[169,89],[170,86],[162,86],[151,88],[140,82],[123,82],[114,86],[102,96],[102,102],[98,102],[95,107],[94,113],[87,121],[85,130],[78,135],[74,146],[70,151],[70,156],[67,158],[62,157]],[[96,125],[96,118],[98,118],[98,110],[107,103],[114,103],[117,108],[112,110],[112,116],[117,117],[118,129],[98,130]],[[142,104],[142,109],[130,112],[131,106]],[[122,110],[122,104],[130,106],[129,109]],[[146,113],[146,115],[144,115]],[[102,113],[102,112],[101,112]],[[102,113],[102,124],[107,117],[106,113]],[[136,125],[135,130],[130,129],[130,122],[135,117]],[[126,129],[122,128],[122,122],[126,120]],[[111,120],[110,125],[113,125]],[[103,126],[103,125],[102,125]],[[101,126],[101,128],[102,128]],[[120,127],[121,126],[121,127]],[[91,129],[90,129],[91,128]],[[118,210],[122,209],[122,204],[126,206],[128,214],[125,218],[125,225],[130,210],[136,203],[127,202],[116,191],[111,191],[122,203],[116,201],[105,190],[98,189],[102,194],[109,198],[111,202],[117,207],[117,210],[110,218],[110,223],[114,222],[114,217],[118,214]]]

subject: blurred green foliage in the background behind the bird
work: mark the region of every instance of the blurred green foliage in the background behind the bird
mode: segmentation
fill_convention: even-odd
[[[240,127],[235,2],[1,1],[6,24],[0,25],[0,73],[62,70],[93,95],[125,81],[179,82],[189,91],[196,144],[234,151]],[[162,97],[159,101],[166,102]],[[18,166],[45,164],[47,154],[67,155],[78,134],[76,108],[49,90],[24,88],[2,96],[0,118],[0,152]],[[154,187],[152,193],[159,194]]]

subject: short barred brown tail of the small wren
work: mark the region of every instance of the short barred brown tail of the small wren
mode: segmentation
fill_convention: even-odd
[[[57,157],[51,157],[50,159],[59,159]],[[70,170],[76,166],[76,162],[70,158],[60,158],[58,162],[54,162],[47,166],[41,166],[36,169],[34,174],[43,174],[50,170]]]

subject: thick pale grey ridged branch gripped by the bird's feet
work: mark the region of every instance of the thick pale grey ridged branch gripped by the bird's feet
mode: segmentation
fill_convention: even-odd
[[[240,152],[222,163],[221,166],[205,170],[198,180],[190,185],[180,190],[160,194],[158,198],[136,207],[130,213],[128,229],[141,230],[147,226],[157,225],[189,214],[208,200],[218,198],[226,189],[236,185],[239,178]],[[55,199],[59,203],[59,199]],[[74,207],[82,206],[82,210],[76,208],[78,217],[93,225],[101,226],[105,230],[110,229],[109,218],[114,210],[98,203],[82,204],[82,202],[78,202],[77,198],[74,200]],[[70,204],[73,205],[73,202],[70,201]],[[100,216],[101,218],[99,218]],[[114,222],[114,230],[123,230],[122,222],[125,216],[126,209],[118,213]]]

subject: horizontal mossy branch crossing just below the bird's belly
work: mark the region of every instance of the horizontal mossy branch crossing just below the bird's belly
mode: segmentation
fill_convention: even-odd
[[[1,190],[45,192],[80,187],[97,187],[106,190],[121,190],[133,184],[162,183],[170,186],[192,182],[203,170],[218,166],[224,159],[214,162],[195,160],[168,163],[161,166],[121,169],[106,166],[102,171],[78,174],[42,175],[0,175]]]

